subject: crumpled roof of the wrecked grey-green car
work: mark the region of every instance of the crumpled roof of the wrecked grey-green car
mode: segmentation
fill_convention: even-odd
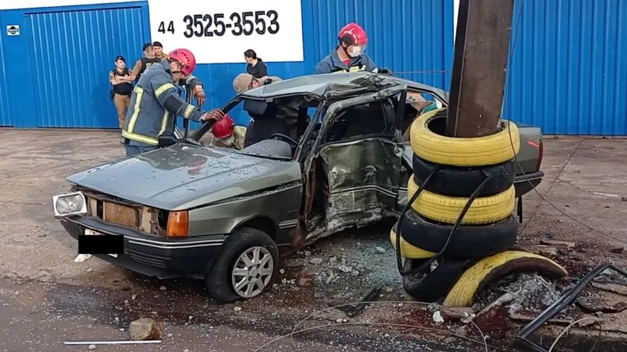
[[[391,75],[369,72],[327,73],[324,75],[305,75],[289,80],[274,82],[262,87],[250,89],[241,96],[251,99],[269,99],[276,96],[315,94],[331,98],[346,94],[376,92],[396,84],[407,84],[408,88],[432,92],[438,98],[448,102],[448,93],[426,84],[404,80]]]

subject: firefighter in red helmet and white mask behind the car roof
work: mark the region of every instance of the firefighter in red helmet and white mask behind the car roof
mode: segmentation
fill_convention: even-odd
[[[315,73],[355,71],[391,73],[387,68],[377,68],[372,58],[364,53],[368,45],[368,36],[357,23],[345,25],[338,33],[338,41],[338,46],[331,51],[331,54],[316,65]]]

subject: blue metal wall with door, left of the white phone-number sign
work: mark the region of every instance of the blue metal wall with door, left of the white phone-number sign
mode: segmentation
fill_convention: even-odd
[[[22,34],[5,37],[10,111],[15,127],[118,127],[109,98],[113,58],[133,65],[150,40],[146,1],[124,4],[3,11],[1,26]],[[26,77],[26,79],[25,79]],[[1,111],[0,111],[1,112]]]

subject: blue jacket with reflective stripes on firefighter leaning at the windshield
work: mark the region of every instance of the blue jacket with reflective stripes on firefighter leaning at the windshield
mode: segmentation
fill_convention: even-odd
[[[160,135],[174,133],[177,116],[199,121],[203,113],[181,99],[164,60],[151,65],[135,85],[122,137],[129,145],[156,146]]]

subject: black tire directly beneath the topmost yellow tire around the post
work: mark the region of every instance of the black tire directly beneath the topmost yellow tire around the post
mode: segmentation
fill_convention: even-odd
[[[417,184],[422,184],[429,176],[436,164],[419,158],[414,154],[414,177]],[[514,184],[516,176],[514,159],[497,165],[482,168],[462,168],[459,166],[441,165],[436,175],[431,177],[429,184],[424,187],[427,191],[442,194],[443,196],[469,197],[479,188],[479,184],[486,180],[486,175],[492,175],[492,180],[483,187],[479,196],[493,196],[506,191]]]

